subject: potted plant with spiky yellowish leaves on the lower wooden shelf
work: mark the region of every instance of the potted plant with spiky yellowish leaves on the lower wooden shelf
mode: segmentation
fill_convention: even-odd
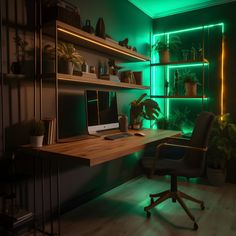
[[[74,66],[81,66],[84,59],[71,43],[58,42],[58,72],[73,74]]]

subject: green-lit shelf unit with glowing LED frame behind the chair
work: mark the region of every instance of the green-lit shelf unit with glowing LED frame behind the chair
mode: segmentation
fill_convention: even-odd
[[[216,87],[221,89],[222,29],[223,23],[217,23],[153,36],[152,44],[157,40],[169,42],[173,36],[179,37],[182,41],[179,50],[169,62],[161,63],[157,52],[152,55],[151,97],[158,101],[165,119],[174,119],[174,116],[182,114],[182,119],[194,121],[197,114],[203,110],[219,112],[221,97],[214,92],[214,89]],[[196,75],[198,79],[196,95],[185,94],[184,83],[181,81],[184,73]],[[176,74],[179,77],[177,85],[175,85]],[[213,101],[217,102],[215,107]],[[192,127],[183,126],[180,127],[183,132],[191,132]]]

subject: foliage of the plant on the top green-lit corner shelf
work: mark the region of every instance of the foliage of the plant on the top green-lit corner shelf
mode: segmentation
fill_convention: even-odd
[[[169,42],[157,40],[155,44],[152,46],[152,48],[156,50],[157,52],[169,50],[171,53],[173,53],[179,50],[181,43],[182,42],[181,42],[180,37],[176,35],[176,36],[170,37]]]

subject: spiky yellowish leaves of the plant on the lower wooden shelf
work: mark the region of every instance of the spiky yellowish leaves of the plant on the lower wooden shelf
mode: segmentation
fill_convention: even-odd
[[[58,42],[58,57],[72,62],[74,65],[81,65],[84,61],[79,51],[71,43]]]

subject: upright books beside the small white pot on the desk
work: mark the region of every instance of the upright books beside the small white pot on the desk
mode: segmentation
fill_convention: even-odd
[[[44,118],[44,145],[53,144],[56,140],[56,118]]]

